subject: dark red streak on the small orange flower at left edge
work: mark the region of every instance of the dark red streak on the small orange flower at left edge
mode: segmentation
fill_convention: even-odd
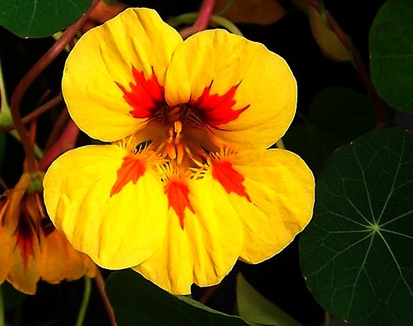
[[[20,250],[21,260],[23,261],[23,268],[27,268],[30,256],[34,256],[34,229],[31,225],[31,219],[28,211],[23,207],[21,216],[19,217],[19,224],[14,231],[16,237],[16,247]]]

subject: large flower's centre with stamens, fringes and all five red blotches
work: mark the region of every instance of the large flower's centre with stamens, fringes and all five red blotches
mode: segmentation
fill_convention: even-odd
[[[130,151],[118,170],[118,178],[110,195],[119,193],[129,182],[136,184],[149,166],[155,167],[164,184],[169,209],[175,211],[182,230],[185,215],[195,213],[190,200],[190,180],[204,177],[207,171],[212,171],[213,179],[220,182],[227,193],[236,193],[251,202],[243,185],[244,177],[231,162],[220,162],[231,151],[224,153],[221,149],[222,153],[218,155],[215,153],[219,150],[218,145],[209,139],[216,131],[224,131],[226,124],[237,120],[248,109],[249,105],[235,109],[235,93],[240,83],[223,94],[214,94],[211,81],[197,98],[191,97],[188,102],[170,105],[153,69],[152,74],[145,77],[144,72],[132,68],[132,75],[134,83],[129,83],[130,91],[120,84],[118,87],[132,108],[129,111],[131,116],[147,122],[146,132],[143,133],[149,136],[149,145],[137,149],[130,146],[134,136],[129,138]],[[149,157],[152,158],[149,160]]]

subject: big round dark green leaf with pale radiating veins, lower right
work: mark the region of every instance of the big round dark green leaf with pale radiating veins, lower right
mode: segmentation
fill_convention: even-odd
[[[412,325],[413,133],[372,131],[332,154],[299,248],[328,312],[351,325]]]

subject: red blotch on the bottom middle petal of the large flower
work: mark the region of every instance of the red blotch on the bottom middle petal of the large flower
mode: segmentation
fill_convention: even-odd
[[[195,214],[195,210],[193,210],[188,198],[189,188],[187,184],[184,184],[183,182],[169,180],[164,190],[168,196],[169,208],[172,207],[173,210],[175,210],[176,215],[178,215],[179,217],[180,227],[183,230],[185,208],[189,208],[189,210],[191,210],[191,212]]]

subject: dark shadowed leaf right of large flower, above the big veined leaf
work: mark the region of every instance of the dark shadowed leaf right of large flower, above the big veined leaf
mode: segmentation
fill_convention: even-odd
[[[304,124],[284,135],[286,149],[299,154],[315,175],[332,151],[374,128],[374,109],[364,94],[346,87],[328,87],[315,95]]]

